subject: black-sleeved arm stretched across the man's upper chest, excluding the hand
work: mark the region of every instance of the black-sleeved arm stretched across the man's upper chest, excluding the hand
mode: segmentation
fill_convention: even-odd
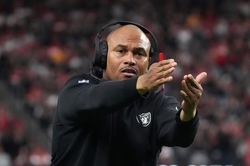
[[[96,121],[141,97],[135,88],[137,78],[98,84],[89,78],[90,83],[85,84],[78,84],[78,80],[69,81],[59,96],[58,109],[66,118]]]

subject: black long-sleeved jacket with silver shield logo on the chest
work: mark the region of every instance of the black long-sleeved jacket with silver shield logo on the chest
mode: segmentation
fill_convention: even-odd
[[[161,91],[141,96],[136,81],[70,78],[54,116],[51,165],[155,166],[162,146],[189,146],[198,116],[181,122],[175,98]]]

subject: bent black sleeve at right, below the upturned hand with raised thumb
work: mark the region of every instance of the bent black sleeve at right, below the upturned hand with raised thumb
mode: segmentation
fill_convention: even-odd
[[[180,119],[181,106],[173,97],[165,96],[157,109],[157,137],[159,146],[189,146],[195,139],[199,118],[183,122]]]

